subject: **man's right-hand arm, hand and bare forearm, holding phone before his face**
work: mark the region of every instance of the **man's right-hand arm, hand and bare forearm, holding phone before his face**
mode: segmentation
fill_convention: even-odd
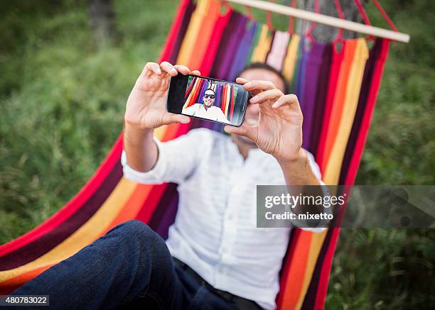
[[[313,172],[308,154],[302,148],[302,121],[303,116],[299,101],[294,94],[283,94],[276,89],[272,82],[247,81],[237,78],[237,83],[244,84],[243,87],[255,96],[250,99],[251,104],[259,104],[260,116],[257,126],[249,126],[243,123],[240,127],[225,126],[227,133],[245,135],[245,137],[257,143],[265,153],[275,157],[284,174],[287,185],[321,185],[319,177]],[[306,194],[318,191],[318,194],[326,195],[323,187],[297,187],[295,194]],[[296,206],[295,213],[301,208]],[[321,212],[323,208],[314,210]]]

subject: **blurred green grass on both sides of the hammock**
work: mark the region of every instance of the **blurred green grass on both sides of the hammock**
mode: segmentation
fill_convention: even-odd
[[[85,184],[122,129],[141,68],[159,55],[176,1],[114,2],[117,36],[97,47],[85,1],[2,1],[0,243]],[[392,43],[356,182],[435,184],[434,2],[382,4],[412,39]],[[284,29],[285,18],[274,18]],[[326,309],[434,308],[434,241],[429,229],[343,229]]]

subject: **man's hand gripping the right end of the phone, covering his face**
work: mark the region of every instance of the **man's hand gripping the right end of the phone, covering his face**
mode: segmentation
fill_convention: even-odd
[[[240,127],[225,126],[227,133],[244,135],[265,153],[279,162],[298,160],[302,150],[302,112],[294,94],[283,94],[269,81],[248,81],[238,77],[237,83],[255,96],[250,104],[259,104],[259,123]]]

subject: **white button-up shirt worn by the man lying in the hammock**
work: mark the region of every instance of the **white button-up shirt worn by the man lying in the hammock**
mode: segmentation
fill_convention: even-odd
[[[284,185],[278,162],[259,149],[246,160],[230,136],[205,128],[159,143],[159,159],[138,172],[122,154],[124,176],[134,182],[178,183],[176,221],[166,244],[217,289],[275,308],[279,271],[291,228],[257,228],[257,184]],[[308,153],[311,168],[320,171]]]

